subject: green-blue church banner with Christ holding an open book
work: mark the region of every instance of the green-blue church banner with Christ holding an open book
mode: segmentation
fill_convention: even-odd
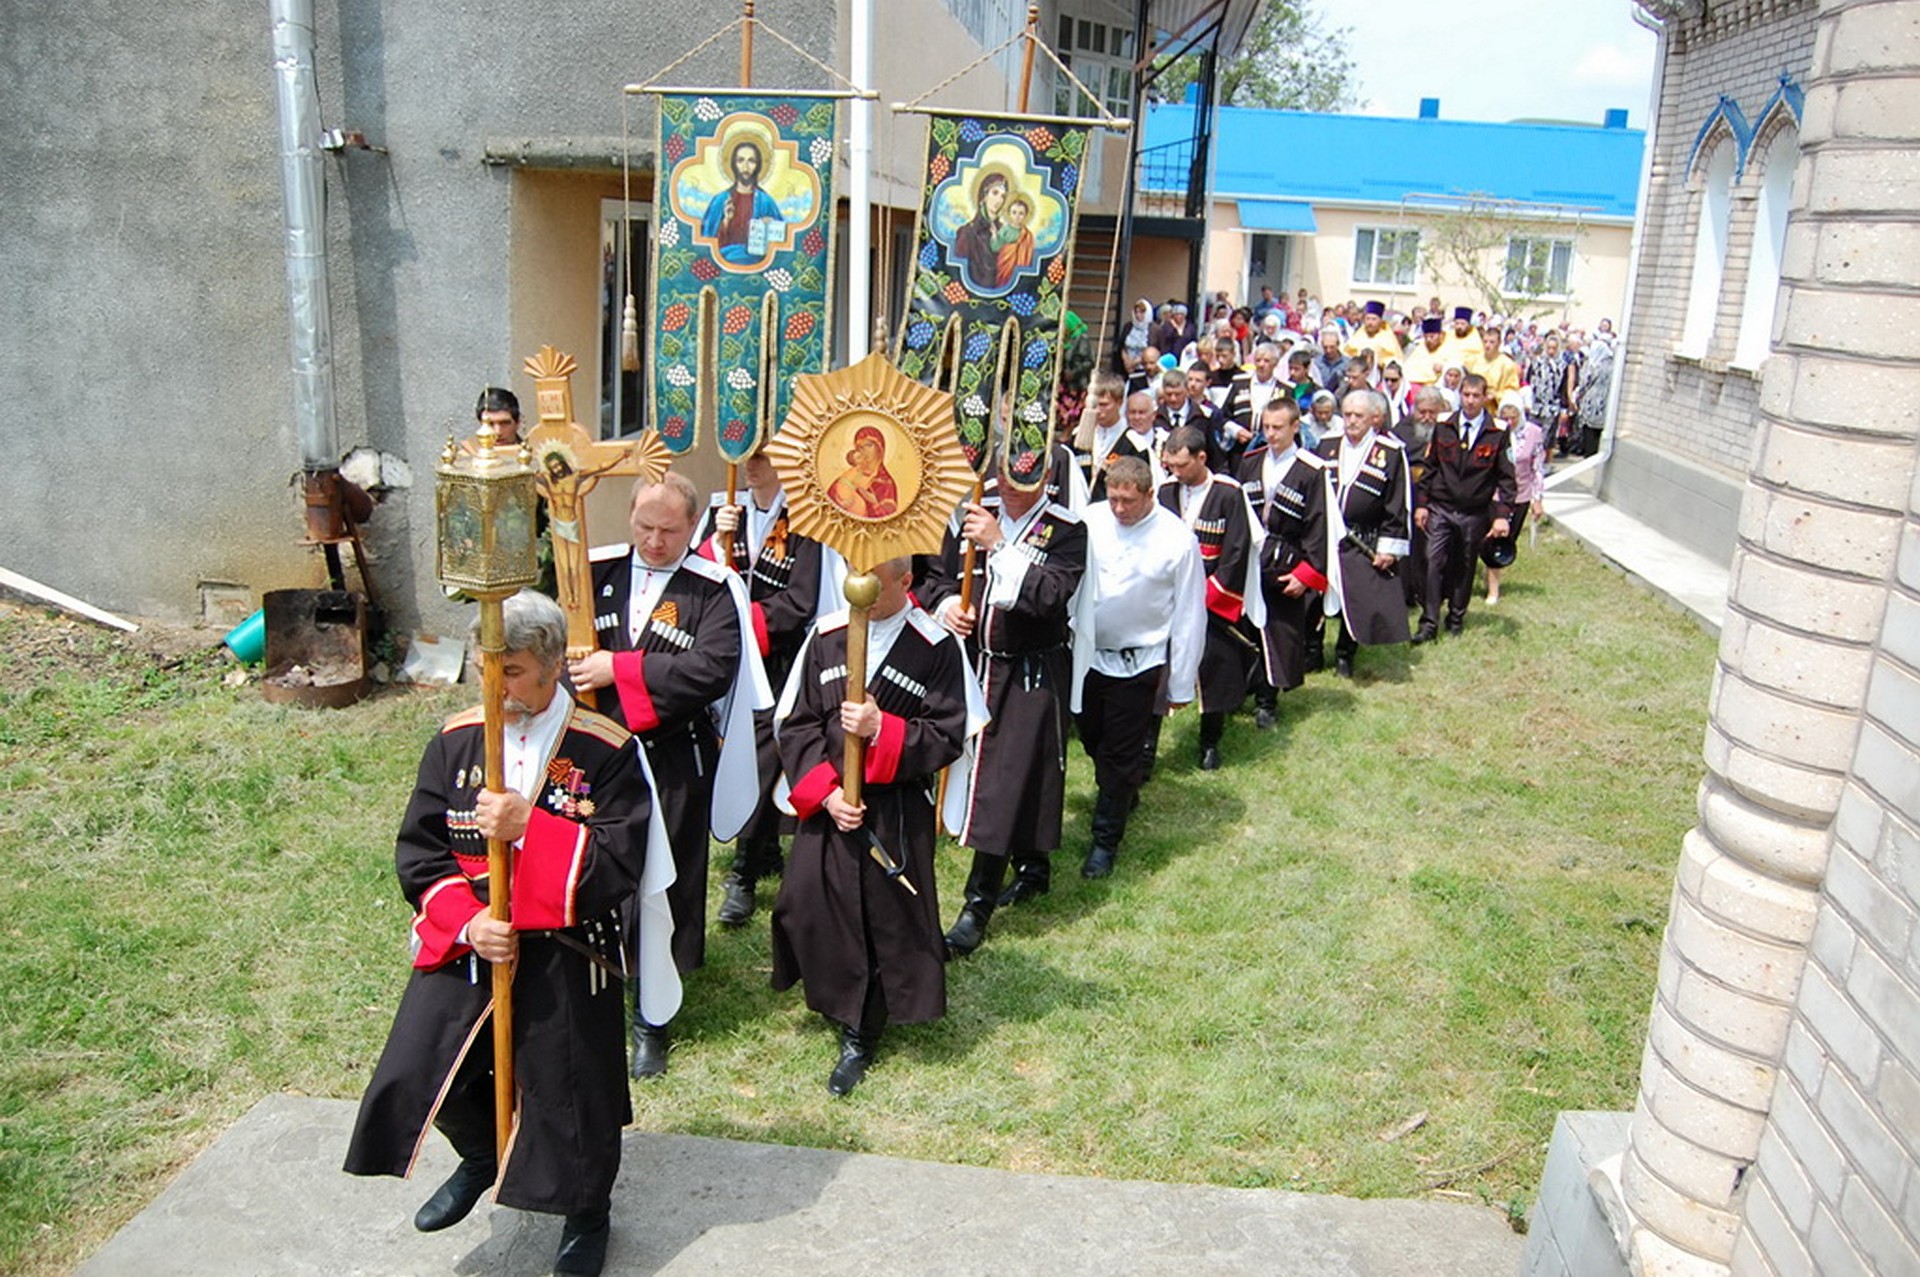
[[[745,459],[826,369],[833,125],[818,96],[660,94],[647,380],[674,453]]]

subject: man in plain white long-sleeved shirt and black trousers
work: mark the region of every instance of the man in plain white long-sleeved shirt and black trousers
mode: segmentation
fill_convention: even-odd
[[[1139,457],[1108,467],[1106,501],[1087,507],[1094,576],[1092,664],[1075,714],[1092,759],[1092,849],[1083,878],[1114,872],[1140,785],[1160,705],[1194,699],[1206,645],[1206,568],[1179,515],[1154,501]]]

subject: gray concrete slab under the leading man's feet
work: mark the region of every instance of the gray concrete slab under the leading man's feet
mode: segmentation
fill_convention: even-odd
[[[482,1204],[444,1233],[415,1233],[413,1212],[453,1169],[451,1150],[430,1141],[413,1181],[344,1175],[351,1121],[348,1100],[267,1096],[81,1275],[547,1271],[553,1216]],[[1480,1206],[628,1131],[607,1273],[1492,1277],[1517,1273],[1521,1252],[1505,1216]]]

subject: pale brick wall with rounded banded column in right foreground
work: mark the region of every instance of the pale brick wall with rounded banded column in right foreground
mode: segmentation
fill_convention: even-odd
[[[1920,111],[1889,109],[1920,0],[1809,17],[1701,820],[1620,1164],[1640,1273],[1920,1273]]]

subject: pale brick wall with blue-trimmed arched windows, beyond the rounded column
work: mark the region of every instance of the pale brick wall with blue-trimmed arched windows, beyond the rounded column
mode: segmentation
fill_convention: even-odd
[[[1715,4],[1703,19],[1670,25],[1615,430],[1620,444],[1632,440],[1642,455],[1672,455],[1716,478],[1720,492],[1709,501],[1716,511],[1738,505],[1740,480],[1753,453],[1759,378],[1753,371],[1732,367],[1730,359],[1740,332],[1757,165],[1766,136],[1755,138],[1755,169],[1734,186],[1728,265],[1705,359],[1674,355],[1686,323],[1701,204],[1697,182],[1688,182],[1688,161],[1695,136],[1722,96],[1759,125],[1753,117],[1774,98],[1782,73],[1805,83],[1812,56],[1811,17],[1811,0],[1780,0]],[[1609,467],[1603,495],[1709,557],[1732,555],[1724,515],[1690,517],[1686,503],[1649,492],[1649,482],[1657,480],[1647,467]]]

